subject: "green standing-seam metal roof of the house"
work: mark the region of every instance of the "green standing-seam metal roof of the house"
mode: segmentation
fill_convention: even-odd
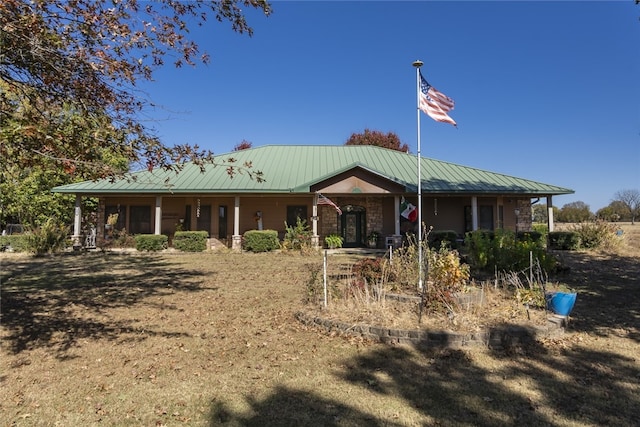
[[[135,180],[85,181],[55,187],[57,193],[77,194],[185,194],[185,193],[308,193],[310,187],[353,168],[362,168],[417,190],[417,157],[374,146],[267,145],[218,155],[220,162],[234,158],[234,165],[251,162],[253,171],[262,171],[264,182],[239,173],[232,178],[227,165],[208,165],[204,173],[193,164],[179,173],[163,170],[140,171]],[[523,178],[422,158],[423,193],[439,194],[571,194],[573,190]]]

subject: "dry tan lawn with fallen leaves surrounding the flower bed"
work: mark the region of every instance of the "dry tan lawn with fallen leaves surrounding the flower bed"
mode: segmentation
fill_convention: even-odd
[[[319,256],[0,261],[2,426],[640,424],[640,225],[564,254],[561,339],[414,349],[298,323]]]

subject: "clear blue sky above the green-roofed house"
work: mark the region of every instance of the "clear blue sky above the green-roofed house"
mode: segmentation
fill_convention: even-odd
[[[365,128],[417,152],[416,74],[456,102],[420,118],[424,157],[575,190],[607,206],[640,189],[640,6],[633,0],[275,1],[253,37],[192,32],[211,63],[145,84],[164,142],[342,145]],[[263,171],[268,179],[268,170]]]

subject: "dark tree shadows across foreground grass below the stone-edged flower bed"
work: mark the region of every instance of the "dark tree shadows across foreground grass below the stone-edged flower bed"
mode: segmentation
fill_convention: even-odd
[[[623,384],[635,361],[598,351],[548,354],[536,344],[493,352],[510,363],[487,370],[453,349],[381,347],[345,362],[336,379],[377,397],[401,398],[423,419],[379,419],[320,394],[276,389],[233,413],[217,402],[210,425],[230,426],[511,426],[638,425],[640,397]],[[606,361],[606,364],[605,364]],[[611,375],[615,372],[615,375]],[[519,385],[518,385],[519,384]],[[614,398],[615,396],[615,398]],[[384,407],[381,407],[381,411]],[[413,417],[415,419],[415,415]],[[403,421],[404,420],[404,421]]]

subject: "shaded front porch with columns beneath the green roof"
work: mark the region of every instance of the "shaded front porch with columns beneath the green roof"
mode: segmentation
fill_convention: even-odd
[[[272,229],[284,236],[286,224],[304,219],[312,231],[316,247],[324,237],[338,234],[345,248],[366,248],[368,236],[379,237],[374,249],[386,249],[407,233],[416,233],[419,221],[401,215],[401,203],[417,204],[415,195],[330,195],[341,213],[319,205],[316,194],[306,196],[103,196],[99,198],[96,223],[82,224],[82,199],[76,197],[73,238],[77,247],[95,246],[108,237],[107,227],[129,234],[165,234],[171,238],[178,230],[205,230],[210,238],[234,250],[240,250],[242,235],[248,230]],[[550,198],[549,198],[550,199]],[[548,202],[549,203],[549,202]],[[423,196],[420,220],[434,230],[453,230],[460,238],[478,229],[531,229],[531,199],[504,197]],[[550,229],[553,216],[550,211]],[[215,214],[214,214],[215,213]],[[117,221],[108,224],[110,216]]]

